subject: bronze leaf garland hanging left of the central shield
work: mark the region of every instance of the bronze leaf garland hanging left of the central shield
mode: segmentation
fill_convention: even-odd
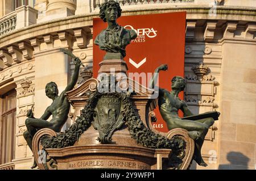
[[[85,108],[81,112],[81,116],[78,116],[75,123],[65,132],[57,134],[57,136],[48,137],[44,136],[41,139],[41,144],[46,148],[65,148],[67,146],[73,146],[82,133],[84,133],[91,125],[94,115],[94,108],[97,104],[98,92],[88,100]]]

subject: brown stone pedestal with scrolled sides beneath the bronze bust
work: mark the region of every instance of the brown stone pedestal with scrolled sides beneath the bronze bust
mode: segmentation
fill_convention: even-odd
[[[111,69],[115,69],[115,73],[112,73]],[[123,60],[104,60],[100,62],[100,70],[98,71],[98,73],[126,74],[127,65],[126,62]],[[129,83],[129,86],[133,88],[136,86],[136,84],[138,84],[137,82],[129,81],[129,78],[127,78],[127,83]],[[92,107],[90,107],[90,105],[92,105],[91,103],[88,105],[90,108],[85,106],[86,104],[88,104],[88,99],[92,97],[91,95],[93,95],[94,98],[97,97],[98,92],[96,91],[98,85],[99,82],[97,81],[97,79],[91,78],[82,83],[82,85],[77,87],[76,89],[67,92],[69,102],[75,108],[76,113],[81,112],[83,109],[89,112],[90,110],[92,110]],[[139,86],[142,87],[142,85]],[[86,121],[83,120],[81,122],[81,119],[77,119],[79,121],[74,123],[74,127],[72,127],[70,129],[71,131],[67,134],[76,134],[76,136],[79,135],[79,139],[72,146],[66,146],[64,148],[47,148],[47,163],[38,163],[39,169],[187,169],[192,160],[194,142],[191,138],[189,138],[187,131],[185,131],[184,129],[177,128],[173,129],[167,134],[164,134],[164,136],[170,139],[179,136],[182,140],[186,142],[185,147],[182,148],[182,153],[180,152],[180,155],[174,154],[171,149],[152,149],[159,148],[156,145],[148,145],[148,147],[152,147],[147,148],[145,144],[148,137],[144,136],[144,139],[146,139],[146,141],[144,139],[144,141],[138,141],[137,139],[142,138],[138,138],[139,136],[137,138],[135,138],[136,136],[131,136],[131,134],[134,135],[134,133],[142,134],[142,132],[147,132],[149,133],[148,135],[151,135],[152,137],[149,139],[150,144],[152,144],[152,140],[158,139],[156,138],[158,137],[156,136],[156,134],[151,133],[151,131],[148,130],[150,129],[148,125],[151,124],[149,120],[149,113],[153,111],[156,107],[156,100],[150,99],[150,95],[153,94],[152,90],[147,89],[146,87],[144,87],[144,89],[146,89],[146,92],[138,92],[137,94],[130,95],[129,97],[132,103],[129,103],[129,105],[131,105],[129,106],[129,109],[130,107],[133,107],[135,115],[137,115],[137,117],[140,117],[142,121],[139,119],[135,121],[133,120],[133,118],[133,121],[128,123],[129,120],[131,120],[132,116],[124,116],[122,115],[122,113],[119,113],[122,111],[128,112],[127,109],[125,109],[125,107],[127,107],[125,106],[125,104],[127,103],[124,103],[125,99],[123,99],[123,96],[125,96],[126,98],[126,94],[121,94],[122,96],[118,97],[120,99],[120,107],[118,110],[117,99],[114,99],[115,102],[113,104],[112,96],[108,97],[109,94],[115,94],[116,92],[101,93],[101,96],[99,98],[96,98],[97,102],[92,102],[93,104],[97,104],[97,106],[93,108],[94,111],[92,112],[94,112],[95,115],[93,116],[93,119],[90,120],[92,121],[92,124],[89,124],[89,128],[84,133],[81,133],[80,126],[81,124],[86,123]],[[109,98],[109,102],[106,102],[105,98],[101,99],[102,96],[106,96],[106,98]],[[98,104],[99,102],[101,102],[101,104]],[[113,113],[109,112],[115,113],[114,119],[112,117]],[[81,116],[82,115],[84,115],[84,113],[82,113]],[[120,122],[120,117],[127,120],[123,120],[123,122]],[[114,123],[113,120],[115,120]],[[132,125],[133,127],[137,127],[137,124],[142,124],[142,122],[147,128],[144,128],[143,126],[143,131],[141,130],[141,133],[139,133],[139,131],[136,131],[134,128],[130,128],[130,130],[128,129],[128,126],[130,127]],[[121,126],[116,126],[120,123],[122,123]],[[75,131],[74,128],[76,128]],[[140,129],[139,127],[137,128]],[[77,129],[80,129],[80,134],[77,134]],[[113,131],[113,134],[110,135],[109,140],[105,141],[105,144],[102,144],[101,142],[104,142],[102,140],[106,140],[105,137],[109,136],[109,132],[106,133],[104,129],[108,130],[109,132]],[[131,129],[134,130],[131,131]],[[145,131],[144,129],[146,129],[147,131]],[[152,130],[152,132],[154,132],[154,130]],[[103,136],[104,139],[101,139],[102,134],[105,136]],[[39,158],[38,151],[42,149],[40,140],[43,136],[46,135],[52,137],[56,136],[56,133],[51,129],[41,129],[35,134],[33,138],[33,154],[36,161],[38,161]],[[161,137],[161,139],[166,138]],[[139,142],[141,144],[139,144]],[[178,158],[179,160],[181,159],[181,163],[176,163],[176,158]]]

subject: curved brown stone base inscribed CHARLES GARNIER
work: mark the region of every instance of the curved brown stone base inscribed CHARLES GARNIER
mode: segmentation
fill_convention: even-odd
[[[46,149],[55,158],[57,169],[126,169],[156,170],[157,155],[168,159],[171,150],[127,145],[84,145],[62,149]],[[68,153],[68,154],[67,154]]]

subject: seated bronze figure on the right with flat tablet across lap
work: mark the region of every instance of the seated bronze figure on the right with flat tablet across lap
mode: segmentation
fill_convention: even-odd
[[[158,77],[159,71],[166,71],[168,69],[167,65],[160,65],[155,69],[154,76],[151,78],[151,88],[155,88],[155,80]],[[204,143],[205,135],[208,132],[209,127],[214,124],[214,118],[217,119],[219,114],[218,112],[212,112],[207,115],[204,115],[203,119],[200,119],[200,116],[197,116],[198,119],[195,119],[195,116],[192,116],[192,112],[189,110],[187,104],[184,100],[179,99],[178,95],[180,91],[183,91],[186,86],[186,81],[183,77],[175,76],[172,79],[172,91],[159,88],[159,97],[158,105],[160,114],[166,121],[168,129],[183,128],[188,131],[189,137],[195,140],[195,161],[200,166],[207,166],[207,163],[204,162],[201,156],[201,148]],[[178,110],[183,111],[185,116],[191,116],[187,119],[181,119],[178,116]]]

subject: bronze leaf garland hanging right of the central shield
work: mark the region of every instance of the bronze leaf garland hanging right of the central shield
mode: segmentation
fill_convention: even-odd
[[[184,141],[182,139],[171,138],[168,139],[160,134],[156,134],[148,129],[135,115],[133,105],[128,97],[123,101],[126,125],[131,134],[131,137],[137,140],[138,144],[147,148],[154,149],[172,149],[174,152],[184,148]]]

